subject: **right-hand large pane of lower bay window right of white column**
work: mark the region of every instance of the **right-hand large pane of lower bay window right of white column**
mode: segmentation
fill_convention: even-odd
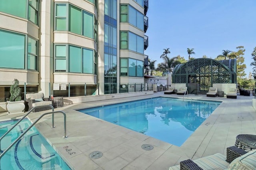
[[[83,73],[93,73],[93,50],[83,48]]]

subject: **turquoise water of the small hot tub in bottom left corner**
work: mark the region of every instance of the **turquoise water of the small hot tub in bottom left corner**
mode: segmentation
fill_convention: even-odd
[[[7,132],[16,121],[0,122],[0,136]],[[1,149],[5,150],[29,126],[28,119],[21,121],[1,141]],[[44,139],[35,127],[32,127],[12,148],[1,158],[1,170],[70,170],[56,151]]]

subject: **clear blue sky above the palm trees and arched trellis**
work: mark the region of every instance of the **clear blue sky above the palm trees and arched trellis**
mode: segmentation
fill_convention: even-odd
[[[256,0],[148,0],[148,48],[150,60],[163,62],[163,49],[172,58],[188,60],[187,48],[194,58],[216,58],[222,50],[237,51],[244,46],[246,77],[256,47]]]

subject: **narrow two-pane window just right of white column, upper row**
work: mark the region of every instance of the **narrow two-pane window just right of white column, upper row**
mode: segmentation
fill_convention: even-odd
[[[66,31],[67,29],[67,9],[66,4],[56,4],[56,26],[58,31]]]

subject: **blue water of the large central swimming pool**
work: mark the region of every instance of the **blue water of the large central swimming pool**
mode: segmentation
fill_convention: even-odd
[[[181,146],[220,103],[158,97],[78,111]]]

